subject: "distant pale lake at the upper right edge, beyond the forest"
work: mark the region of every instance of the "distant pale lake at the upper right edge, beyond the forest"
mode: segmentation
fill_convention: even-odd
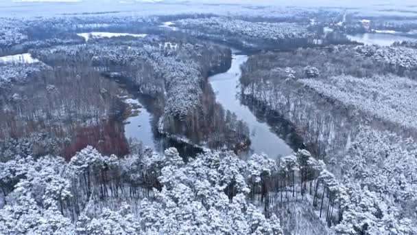
[[[411,36],[404,36],[398,34],[381,34],[381,33],[366,33],[366,34],[355,34],[347,35],[350,41],[357,41],[358,43],[364,43],[365,45],[381,45],[389,46],[394,42],[402,41],[417,41],[417,38]]]

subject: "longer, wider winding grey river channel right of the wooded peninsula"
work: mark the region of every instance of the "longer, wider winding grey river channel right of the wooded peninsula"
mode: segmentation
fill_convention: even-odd
[[[265,153],[273,159],[286,156],[293,150],[272,131],[265,122],[260,122],[248,107],[241,104],[239,99],[240,65],[246,62],[248,56],[233,56],[232,67],[223,74],[211,76],[209,81],[216,93],[216,100],[224,109],[236,113],[237,118],[246,122],[250,128],[251,149],[254,153]]]

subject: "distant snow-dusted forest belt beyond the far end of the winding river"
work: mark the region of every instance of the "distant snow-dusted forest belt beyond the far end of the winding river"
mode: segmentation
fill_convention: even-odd
[[[175,21],[189,34],[228,41],[243,48],[290,48],[313,44],[314,32],[302,23],[264,23],[241,21],[222,17],[182,19]]]

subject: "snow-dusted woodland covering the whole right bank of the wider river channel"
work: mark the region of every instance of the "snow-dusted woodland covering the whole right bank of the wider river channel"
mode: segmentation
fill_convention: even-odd
[[[394,54],[396,49],[414,53],[404,47],[345,46],[252,56],[242,67],[241,84],[243,98],[282,113],[298,126],[307,148],[339,175],[349,192],[344,200],[391,208],[376,209],[372,216],[376,221],[400,219],[383,223],[409,227],[416,221],[415,210],[407,212],[416,206],[416,82],[412,57]],[[352,205],[346,212],[355,215],[342,216],[337,232],[355,230],[355,223],[369,219],[361,213],[375,209]]]

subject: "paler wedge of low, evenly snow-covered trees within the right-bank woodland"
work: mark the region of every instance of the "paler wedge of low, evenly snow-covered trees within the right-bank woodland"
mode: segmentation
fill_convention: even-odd
[[[398,51],[399,52],[399,51]],[[301,79],[303,85],[322,96],[339,100],[374,118],[407,128],[417,128],[417,82],[396,76],[355,78],[336,76],[326,80]]]

